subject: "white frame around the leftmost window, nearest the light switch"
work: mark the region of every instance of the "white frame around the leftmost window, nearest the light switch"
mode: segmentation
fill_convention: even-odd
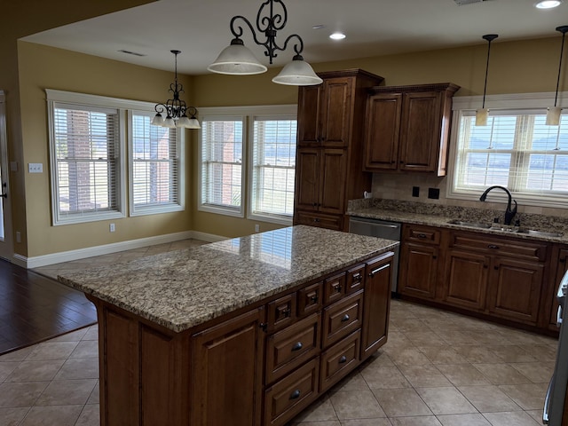
[[[114,219],[125,217],[125,161],[124,161],[124,103],[120,99],[109,99],[94,95],[85,95],[82,93],[73,93],[67,91],[46,90],[48,105],[48,122],[49,122],[49,143],[50,143],[50,166],[51,166],[51,224],[52,225],[70,225],[86,222],[93,222],[106,219]],[[57,155],[55,146],[55,126],[53,123],[55,114],[55,104],[59,106],[68,105],[70,108],[77,106],[86,106],[93,110],[97,108],[116,109],[118,114],[118,140],[116,141],[117,161],[117,177],[115,182],[116,191],[116,209],[107,211],[85,212],[73,215],[61,215],[59,212],[59,182],[57,173]]]

